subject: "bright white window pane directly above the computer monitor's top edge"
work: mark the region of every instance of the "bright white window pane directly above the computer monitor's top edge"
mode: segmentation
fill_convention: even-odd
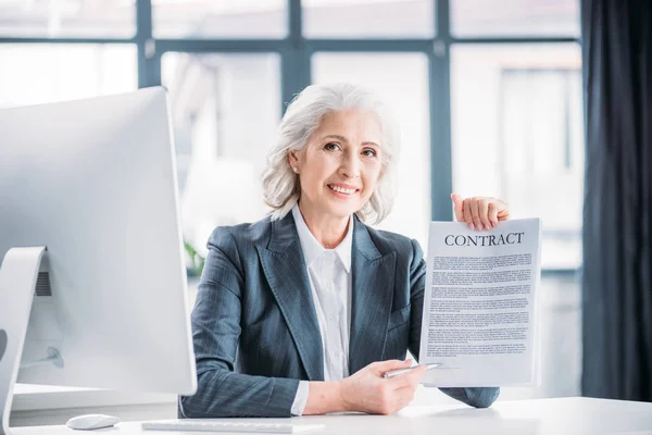
[[[138,87],[133,45],[0,45],[0,108]]]

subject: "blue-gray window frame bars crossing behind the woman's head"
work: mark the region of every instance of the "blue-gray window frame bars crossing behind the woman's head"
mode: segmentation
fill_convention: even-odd
[[[452,189],[450,52],[465,44],[580,44],[562,37],[455,37],[451,34],[451,0],[435,2],[435,32],[417,39],[311,39],[303,36],[301,0],[287,0],[288,36],[283,39],[165,39],[154,38],[151,0],[136,1],[136,34],[131,38],[0,37],[0,44],[135,44],[138,87],[161,85],[161,58],[168,51],[193,53],[276,52],[280,57],[281,113],[285,102],[311,84],[311,57],[315,52],[421,52],[428,59],[430,109],[431,220],[450,221]],[[578,1],[578,0],[576,0]],[[436,158],[435,158],[436,157]]]

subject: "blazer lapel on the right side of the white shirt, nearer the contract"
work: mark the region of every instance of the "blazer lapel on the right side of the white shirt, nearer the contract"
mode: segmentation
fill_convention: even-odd
[[[380,256],[366,225],[354,217],[349,373],[380,361],[394,290],[397,253]]]

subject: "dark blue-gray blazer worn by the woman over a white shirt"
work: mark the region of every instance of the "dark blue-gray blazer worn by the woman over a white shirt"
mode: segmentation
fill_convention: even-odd
[[[198,389],[180,418],[290,417],[299,380],[323,381],[324,356],[292,213],[217,227],[209,240],[192,340]],[[358,217],[351,256],[349,372],[418,359],[426,264],[416,243]],[[499,388],[441,388],[485,408]]]

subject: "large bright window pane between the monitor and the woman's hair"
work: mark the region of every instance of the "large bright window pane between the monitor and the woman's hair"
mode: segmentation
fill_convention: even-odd
[[[280,121],[277,54],[166,53],[183,232],[198,251],[217,225],[265,214],[261,174]]]

